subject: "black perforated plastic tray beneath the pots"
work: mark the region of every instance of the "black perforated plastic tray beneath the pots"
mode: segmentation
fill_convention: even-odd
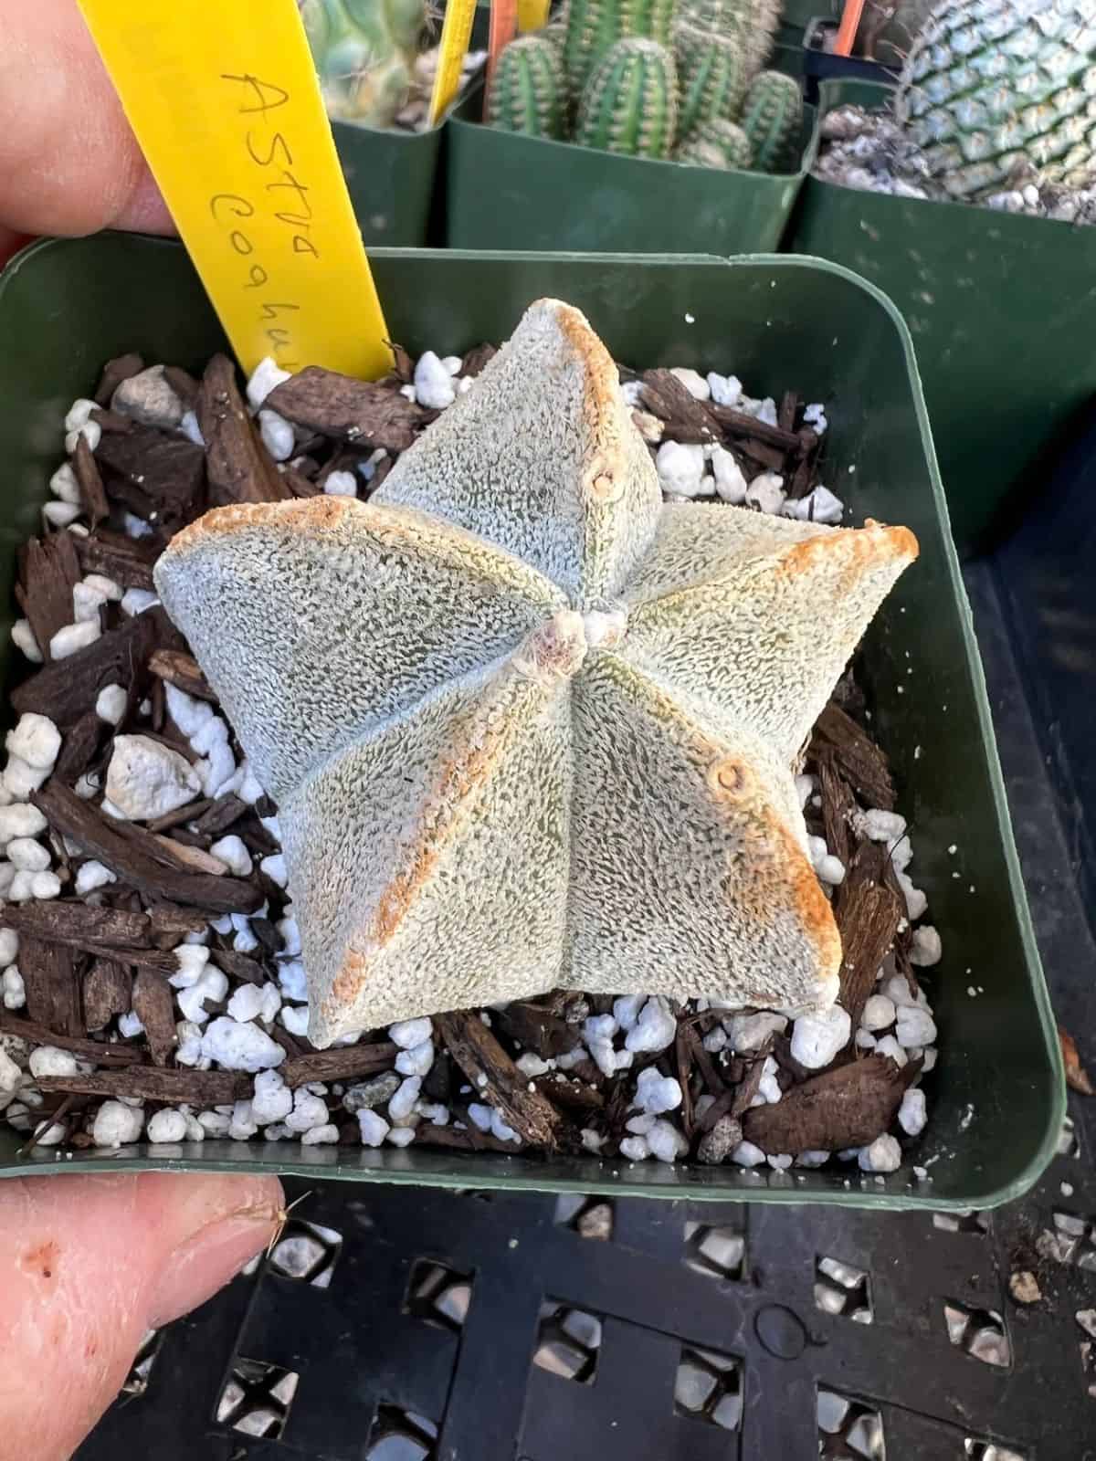
[[[1057,1012],[1096,1065],[1096,948],[994,571],[967,587]],[[1096,1103],[1070,1103],[994,1213],[313,1185],[79,1461],[1092,1461]]]

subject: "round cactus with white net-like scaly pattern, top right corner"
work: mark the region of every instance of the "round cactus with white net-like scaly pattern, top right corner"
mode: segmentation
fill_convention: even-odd
[[[1026,164],[1081,183],[1096,168],[1096,0],[944,0],[894,110],[956,197],[1007,187]]]

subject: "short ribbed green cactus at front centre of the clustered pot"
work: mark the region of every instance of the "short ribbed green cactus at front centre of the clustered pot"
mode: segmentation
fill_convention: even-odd
[[[658,41],[630,37],[609,47],[579,104],[574,140],[585,148],[665,158],[674,148],[678,79]]]

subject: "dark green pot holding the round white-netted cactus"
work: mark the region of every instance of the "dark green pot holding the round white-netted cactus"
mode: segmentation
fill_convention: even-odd
[[[890,95],[827,82],[821,114]],[[808,177],[786,244],[855,269],[905,316],[956,545],[963,557],[986,546],[1096,390],[1096,229]]]

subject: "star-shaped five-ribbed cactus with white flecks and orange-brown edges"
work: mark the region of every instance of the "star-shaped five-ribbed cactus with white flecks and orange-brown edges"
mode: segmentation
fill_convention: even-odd
[[[551,300],[368,503],[178,533],[156,587],[279,802],[313,1042],[557,985],[831,1004],[792,764],[915,557],[662,507]]]

